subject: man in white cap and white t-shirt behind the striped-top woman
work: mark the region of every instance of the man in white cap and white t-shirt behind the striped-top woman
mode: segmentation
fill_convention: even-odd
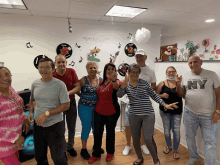
[[[145,79],[147,82],[151,83],[151,87],[153,90],[156,89],[156,76],[154,73],[154,70],[151,69],[149,66],[145,64],[145,61],[147,60],[147,55],[144,52],[143,49],[137,50],[135,54],[136,62],[141,68],[141,73],[139,75],[139,78]],[[128,100],[128,99],[127,99]],[[129,102],[127,102],[126,106],[126,112],[125,112],[125,134],[127,139],[127,146],[125,146],[125,149],[123,150],[123,155],[126,156],[129,154],[131,150],[131,130],[129,126],[128,116],[129,116]],[[148,155],[149,150],[147,149],[145,143],[144,143],[144,137],[143,137],[143,129],[141,130],[141,149],[142,151]]]

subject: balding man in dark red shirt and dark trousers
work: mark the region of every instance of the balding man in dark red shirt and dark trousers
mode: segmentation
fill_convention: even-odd
[[[57,55],[55,57],[55,66],[57,69],[53,76],[66,84],[70,99],[70,108],[63,113],[64,123],[67,121],[68,128],[67,152],[71,156],[76,156],[77,152],[73,148],[77,118],[75,94],[81,89],[80,83],[75,70],[72,68],[66,68],[67,61],[64,55]]]

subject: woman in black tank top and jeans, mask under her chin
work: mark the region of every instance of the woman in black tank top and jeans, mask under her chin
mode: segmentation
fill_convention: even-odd
[[[178,102],[178,108],[173,110],[165,110],[163,106],[160,106],[160,115],[163,121],[164,135],[167,143],[166,149],[163,151],[168,154],[172,150],[171,134],[173,131],[173,158],[179,159],[178,148],[180,144],[180,124],[182,118],[182,98],[176,93],[176,69],[173,66],[169,66],[166,70],[166,80],[161,81],[156,92],[161,98],[163,98],[166,104]]]

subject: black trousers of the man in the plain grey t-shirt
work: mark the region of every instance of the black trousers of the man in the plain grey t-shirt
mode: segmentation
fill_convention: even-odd
[[[49,127],[37,126],[34,123],[34,146],[37,165],[49,165],[47,160],[48,146],[55,165],[68,165],[64,153],[64,126],[63,121]]]

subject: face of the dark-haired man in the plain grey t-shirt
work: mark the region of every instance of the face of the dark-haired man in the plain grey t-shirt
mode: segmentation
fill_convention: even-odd
[[[42,79],[52,79],[55,69],[52,68],[52,64],[50,61],[44,61],[39,63],[38,71]]]

